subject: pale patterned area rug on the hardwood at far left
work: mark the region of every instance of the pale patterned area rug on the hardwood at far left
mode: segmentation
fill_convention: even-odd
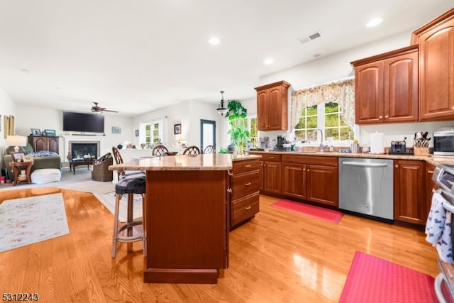
[[[68,233],[61,193],[5,200],[0,204],[0,252]]]

